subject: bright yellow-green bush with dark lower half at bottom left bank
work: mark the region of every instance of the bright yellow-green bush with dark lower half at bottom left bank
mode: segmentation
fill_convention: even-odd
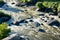
[[[2,23],[0,24],[0,40],[7,37],[9,35],[10,29],[7,29],[7,24]]]

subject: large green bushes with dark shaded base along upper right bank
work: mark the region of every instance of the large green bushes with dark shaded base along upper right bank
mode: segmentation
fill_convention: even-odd
[[[43,1],[43,2],[37,2],[36,6],[41,10],[47,11],[50,9],[54,14],[57,14],[60,12],[60,1]],[[47,10],[48,9],[48,10]]]

